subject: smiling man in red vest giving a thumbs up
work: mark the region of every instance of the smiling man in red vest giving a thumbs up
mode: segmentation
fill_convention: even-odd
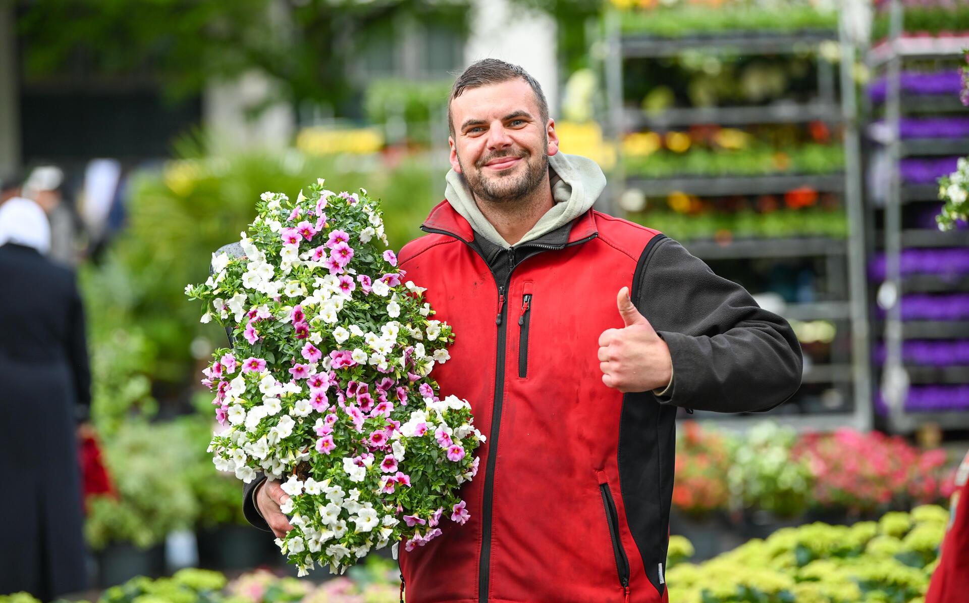
[[[471,65],[449,111],[446,199],[400,261],[453,327],[441,393],[487,441],[471,519],[401,552],[407,600],[666,601],[676,409],[780,404],[797,338],[671,238],[593,210],[605,175],[558,152],[520,67]],[[278,484],[247,492],[284,533]]]

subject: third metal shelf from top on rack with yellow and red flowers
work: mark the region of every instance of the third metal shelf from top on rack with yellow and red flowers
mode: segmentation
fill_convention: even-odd
[[[662,197],[673,192],[698,196],[769,195],[781,194],[801,187],[820,192],[844,190],[843,174],[828,175],[734,175],[649,178],[630,175],[627,183],[642,191],[646,197]]]

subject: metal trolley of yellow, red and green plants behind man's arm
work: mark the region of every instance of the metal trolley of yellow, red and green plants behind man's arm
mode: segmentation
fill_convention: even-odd
[[[803,385],[771,419],[870,428],[856,45],[838,12],[796,30],[674,37],[629,20],[604,21],[610,208],[680,240],[795,326]],[[710,415],[724,428],[763,419]]]

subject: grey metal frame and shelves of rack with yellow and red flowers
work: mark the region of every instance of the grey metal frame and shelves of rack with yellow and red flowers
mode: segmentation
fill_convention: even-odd
[[[684,242],[694,255],[705,260],[811,258],[824,266],[826,291],[835,301],[791,304],[782,314],[792,320],[837,320],[838,347],[829,365],[815,365],[804,375],[813,389],[836,389],[843,405],[828,408],[807,392],[800,407],[785,406],[770,413],[770,418],[802,430],[829,430],[842,427],[867,429],[871,426],[870,370],[865,317],[864,231],[859,161],[858,127],[855,122],[857,98],[852,70],[856,48],[844,36],[841,23],[830,28],[796,32],[720,32],[687,38],[660,38],[620,31],[615,10],[606,14],[604,28],[607,52],[603,55],[606,103],[603,114],[606,129],[614,140],[643,128],[672,128],[692,124],[718,124],[742,127],[751,124],[803,124],[826,121],[838,124],[843,133],[845,162],[834,172],[823,174],[766,175],[672,175],[655,177],[636,174],[635,166],[622,161],[610,176],[610,201],[614,204],[629,189],[645,197],[665,197],[673,192],[701,197],[732,195],[783,195],[799,188],[833,193],[842,200],[851,235],[846,238],[788,237],[697,240]],[[821,45],[837,42],[840,61],[818,52]],[[775,54],[813,55],[817,60],[817,89],[812,100],[800,103],[778,102],[761,107],[722,107],[711,109],[672,109],[659,113],[624,106],[623,71],[627,62],[662,60],[685,50],[703,50],[727,55]],[[632,106],[631,106],[632,107]],[[731,166],[733,167],[733,166]],[[613,206],[614,207],[614,206]],[[806,229],[805,229],[806,230]],[[816,258],[816,259],[815,259]],[[845,325],[847,322],[849,325]],[[850,326],[849,329],[845,327]],[[845,349],[847,348],[847,349]],[[830,384],[830,385],[828,385]],[[809,388],[810,389],[810,388]],[[808,414],[793,414],[808,413]],[[814,414],[812,414],[814,413]],[[697,412],[697,418],[716,419],[725,428],[744,429],[760,423],[764,416],[726,416]]]

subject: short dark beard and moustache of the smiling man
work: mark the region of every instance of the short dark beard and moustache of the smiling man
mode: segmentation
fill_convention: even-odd
[[[525,164],[524,169],[519,174],[512,175],[510,173],[518,168],[513,166],[493,176],[486,176],[482,171],[485,164],[499,157],[520,157]],[[548,177],[548,155],[546,153],[535,155],[526,148],[491,153],[476,162],[473,173],[469,173],[465,168],[460,155],[457,157],[457,162],[461,166],[460,176],[475,197],[495,204],[514,203],[528,198]]]

